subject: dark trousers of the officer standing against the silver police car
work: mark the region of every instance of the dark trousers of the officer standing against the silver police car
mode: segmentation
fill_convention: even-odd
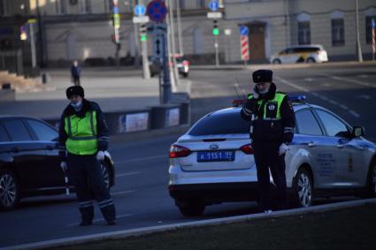
[[[276,208],[284,209],[288,205],[288,193],[286,184],[285,155],[279,155],[280,143],[260,142],[252,143],[255,163],[257,167],[257,185],[260,198],[260,206],[264,210],[272,209],[270,198],[270,175],[276,186]]]

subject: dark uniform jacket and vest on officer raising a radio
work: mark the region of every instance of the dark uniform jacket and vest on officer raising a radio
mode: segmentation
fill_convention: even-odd
[[[265,95],[260,94],[257,99],[249,95],[241,115],[243,119],[251,121],[249,135],[254,143],[269,141],[288,144],[293,140],[294,110],[288,96],[277,91],[274,83]]]

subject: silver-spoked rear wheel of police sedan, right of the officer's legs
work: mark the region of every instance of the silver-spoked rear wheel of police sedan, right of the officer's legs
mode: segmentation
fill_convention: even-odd
[[[313,182],[308,170],[297,171],[293,183],[295,206],[307,208],[312,204]]]

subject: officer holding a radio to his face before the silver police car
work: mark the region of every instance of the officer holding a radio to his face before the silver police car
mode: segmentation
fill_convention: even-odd
[[[285,154],[293,140],[294,111],[288,96],[277,91],[272,82],[272,71],[258,70],[252,74],[256,86],[242,108],[242,118],[251,121],[249,135],[257,166],[260,206],[266,214],[272,212],[269,197],[270,176],[277,188],[276,208],[288,205],[285,174]]]

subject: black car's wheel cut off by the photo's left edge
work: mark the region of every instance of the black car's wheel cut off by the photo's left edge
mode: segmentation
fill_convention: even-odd
[[[19,184],[11,170],[0,170],[0,209],[11,210],[19,203]]]

